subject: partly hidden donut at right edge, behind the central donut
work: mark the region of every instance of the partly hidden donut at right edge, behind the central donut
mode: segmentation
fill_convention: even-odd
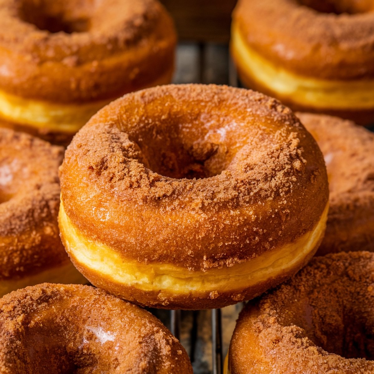
[[[348,120],[296,113],[325,157],[330,205],[317,254],[374,252],[374,134]]]

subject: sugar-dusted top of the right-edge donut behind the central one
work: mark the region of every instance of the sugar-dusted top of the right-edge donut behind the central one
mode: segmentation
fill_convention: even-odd
[[[324,154],[330,211],[347,215],[356,204],[374,206],[374,134],[337,117],[297,113]]]

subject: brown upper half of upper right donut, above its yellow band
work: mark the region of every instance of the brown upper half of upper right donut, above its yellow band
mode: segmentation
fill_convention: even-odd
[[[240,0],[233,18],[277,66],[321,79],[374,77],[373,1]]]

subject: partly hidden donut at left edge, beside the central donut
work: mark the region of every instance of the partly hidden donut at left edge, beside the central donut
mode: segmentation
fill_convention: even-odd
[[[62,147],[0,128],[0,296],[27,285],[86,282],[59,238]]]

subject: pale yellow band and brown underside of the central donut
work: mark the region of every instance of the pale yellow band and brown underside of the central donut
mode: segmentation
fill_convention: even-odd
[[[215,308],[257,296],[295,273],[315,254],[325,232],[328,206],[310,232],[294,243],[224,269],[188,271],[170,263],[141,264],[86,236],[69,220],[61,201],[59,227],[74,266],[93,284],[145,306]],[[193,219],[193,217],[191,217]],[[303,248],[300,251],[300,248]],[[211,302],[210,302],[211,300]]]

